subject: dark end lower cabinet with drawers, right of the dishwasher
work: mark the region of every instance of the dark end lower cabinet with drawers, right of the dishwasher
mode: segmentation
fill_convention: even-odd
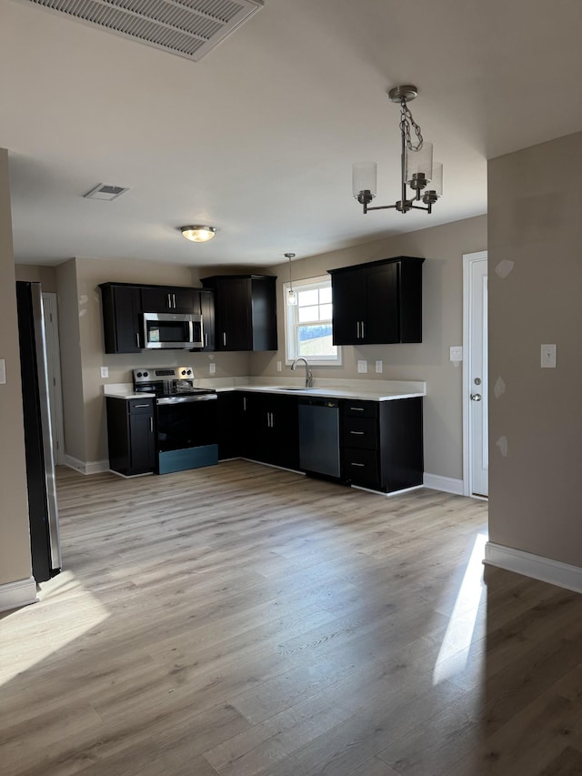
[[[422,485],[422,398],[345,399],[341,425],[346,484],[385,493]]]

